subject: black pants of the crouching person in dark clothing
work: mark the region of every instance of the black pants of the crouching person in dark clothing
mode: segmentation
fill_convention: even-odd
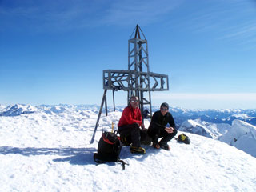
[[[167,133],[161,126],[150,126],[147,131],[153,143],[158,143],[158,138],[162,138],[159,144],[166,144],[177,134],[177,130],[173,133]]]

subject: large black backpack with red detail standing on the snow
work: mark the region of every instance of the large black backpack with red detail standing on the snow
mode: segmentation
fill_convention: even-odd
[[[94,153],[94,161],[97,163],[121,162],[125,169],[126,162],[119,158],[122,150],[122,142],[116,133],[104,131],[98,142],[98,153]]]

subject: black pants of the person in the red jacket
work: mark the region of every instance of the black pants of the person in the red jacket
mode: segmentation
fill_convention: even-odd
[[[129,137],[131,139],[132,146],[139,147],[141,146],[140,138],[141,138],[141,131],[137,123],[119,126],[118,133],[120,137]]]

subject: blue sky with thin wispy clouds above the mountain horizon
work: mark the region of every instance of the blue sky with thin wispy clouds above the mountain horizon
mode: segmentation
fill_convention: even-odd
[[[169,75],[154,106],[256,108],[253,0],[0,0],[0,104],[100,105],[102,70],[128,69],[136,24],[150,71]]]

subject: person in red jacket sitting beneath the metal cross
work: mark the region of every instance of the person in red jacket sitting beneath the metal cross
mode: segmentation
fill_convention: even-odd
[[[129,105],[122,111],[122,116],[118,122],[118,133],[121,138],[130,137],[131,153],[145,154],[146,150],[141,147],[140,142],[141,132],[145,129],[145,126],[142,123],[142,114],[138,108],[138,103],[138,97],[130,97]],[[140,127],[142,127],[142,130]]]

